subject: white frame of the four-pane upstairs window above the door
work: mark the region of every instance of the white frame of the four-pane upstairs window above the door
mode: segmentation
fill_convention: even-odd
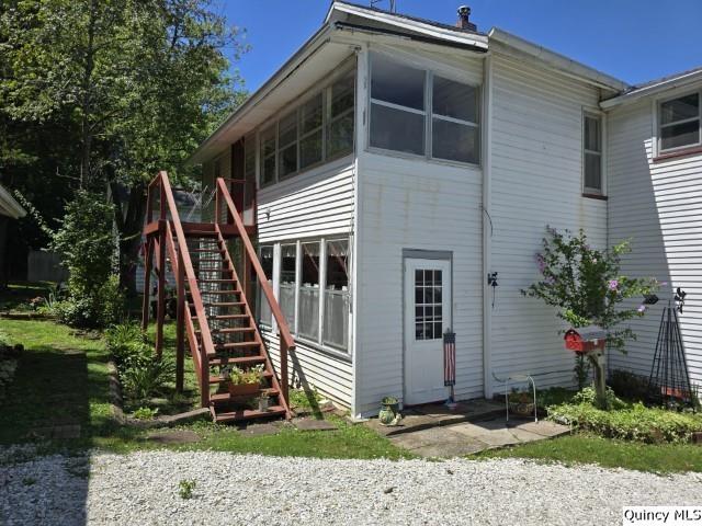
[[[385,101],[381,101],[378,99],[374,99],[372,96],[372,90],[371,90],[371,83],[372,83],[372,79],[373,79],[373,55],[383,55],[385,59],[387,60],[392,60],[396,64],[399,64],[401,66],[405,66],[407,68],[411,68],[411,69],[419,69],[422,70],[424,72],[424,110],[417,110],[414,107],[408,107],[408,106],[403,106],[399,104],[393,104],[390,102],[385,102]],[[404,158],[404,159],[422,159],[424,161],[428,162],[435,162],[435,163],[440,163],[440,164],[449,164],[449,165],[454,165],[454,167],[468,167],[468,168],[480,168],[482,163],[483,163],[483,151],[482,148],[478,148],[478,162],[463,162],[463,161],[456,161],[453,159],[442,159],[440,157],[432,157],[432,126],[433,126],[433,118],[439,118],[439,119],[443,119],[446,122],[453,122],[456,124],[464,124],[464,125],[471,125],[474,126],[476,128],[478,128],[478,130],[480,129],[480,123],[479,121],[477,123],[471,123],[469,121],[462,121],[458,118],[453,118],[453,117],[449,117],[445,115],[434,115],[433,113],[433,78],[434,75],[438,77],[441,77],[442,79],[446,79],[446,80],[452,80],[454,82],[458,82],[465,85],[469,85],[472,88],[474,88],[477,91],[477,107],[476,107],[476,115],[480,115],[480,106],[483,103],[483,94],[482,94],[482,87],[478,82],[476,82],[474,79],[469,79],[465,76],[461,76],[461,75],[455,75],[452,73],[448,70],[442,70],[440,67],[434,67],[430,64],[424,64],[424,62],[419,62],[417,60],[414,60],[409,57],[401,57],[401,56],[397,56],[394,54],[388,54],[388,53],[384,53],[384,52],[378,52],[377,49],[373,49],[370,54],[369,54],[369,60],[367,60],[367,70],[365,72],[366,78],[369,79],[367,82],[367,90],[366,90],[366,107],[369,108],[369,116],[366,119],[366,126],[365,126],[365,150],[371,152],[371,153],[380,153],[380,155],[384,155],[384,156],[389,156],[389,157],[398,157],[398,158]],[[423,115],[424,116],[424,153],[423,155],[419,155],[419,153],[409,153],[409,152],[405,152],[405,151],[398,151],[398,150],[389,150],[386,148],[380,148],[377,146],[371,146],[371,119],[372,119],[372,115],[373,115],[373,104],[380,104],[380,105],[384,105],[387,107],[392,107],[394,110],[400,110],[400,111],[406,111],[409,113],[415,113],[418,115]]]

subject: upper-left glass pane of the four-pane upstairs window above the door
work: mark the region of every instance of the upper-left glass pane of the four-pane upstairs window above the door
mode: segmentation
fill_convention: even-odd
[[[415,110],[424,108],[424,76],[420,69],[372,56],[371,98]]]

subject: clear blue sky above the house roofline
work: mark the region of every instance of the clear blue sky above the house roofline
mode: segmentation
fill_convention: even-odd
[[[235,65],[254,91],[321,25],[328,0],[219,0],[251,50]],[[369,4],[369,0],[355,0]],[[380,5],[387,5],[387,1]],[[398,12],[507,30],[630,83],[702,66],[702,0],[397,0]]]

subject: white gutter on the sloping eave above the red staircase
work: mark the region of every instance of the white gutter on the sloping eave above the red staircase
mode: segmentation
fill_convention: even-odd
[[[261,101],[263,101],[269,93],[274,91],[282,82],[287,80],[303,64],[305,64],[312,56],[314,56],[327,42],[328,35],[333,28],[325,24],[317,32],[310,36],[305,44],[278,70],[273,77],[261,85],[253,94],[251,94],[239,107],[237,107],[227,119],[219,125],[219,127],[207,137],[188,158],[185,164],[196,164],[202,162],[201,159],[203,150],[211,146],[218,137],[226,134],[226,132],[234,125],[239,123],[246,115],[257,107]]]

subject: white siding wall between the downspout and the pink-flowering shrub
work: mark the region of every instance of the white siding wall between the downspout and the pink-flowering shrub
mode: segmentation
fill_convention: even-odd
[[[597,107],[599,93],[503,55],[496,54],[492,65],[488,272],[499,272],[499,287],[490,308],[488,377],[526,373],[541,375],[540,388],[573,385],[573,354],[558,334],[564,324],[552,308],[520,290],[539,278],[534,254],[547,225],[584,229],[592,245],[607,244],[607,202],[582,197],[582,107]]]

